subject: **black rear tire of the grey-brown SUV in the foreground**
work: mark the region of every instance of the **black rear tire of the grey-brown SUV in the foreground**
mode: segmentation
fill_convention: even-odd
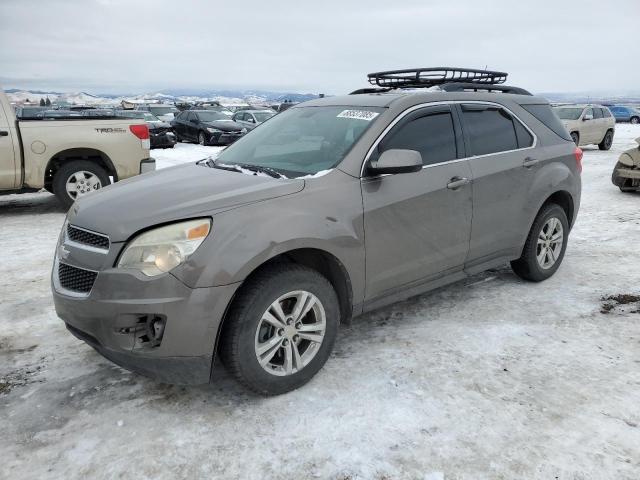
[[[561,230],[553,228],[553,231],[551,231],[552,225],[557,227],[558,223],[556,222],[559,222]],[[547,230],[545,231],[545,229]],[[548,241],[548,237],[552,237],[554,232],[558,231],[562,234],[562,244],[560,245],[558,245],[557,241]],[[547,239],[543,240],[542,236]],[[564,209],[555,203],[545,205],[531,226],[522,255],[519,259],[511,262],[511,268],[516,275],[524,280],[530,282],[546,280],[556,273],[556,270],[560,267],[564,252],[567,249],[568,236],[569,222]],[[550,252],[546,248],[547,246],[550,247]],[[545,249],[549,252],[548,254],[543,254]],[[542,262],[539,260],[539,256],[542,256]],[[552,264],[546,264],[547,260],[552,259]]]

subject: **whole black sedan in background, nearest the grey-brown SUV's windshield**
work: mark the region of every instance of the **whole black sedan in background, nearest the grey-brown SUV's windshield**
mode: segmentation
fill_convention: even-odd
[[[178,141],[200,145],[230,145],[247,133],[247,129],[228,116],[213,110],[186,110],[171,122]]]

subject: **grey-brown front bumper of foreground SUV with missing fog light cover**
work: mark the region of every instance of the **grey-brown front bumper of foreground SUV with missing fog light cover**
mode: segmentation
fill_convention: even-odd
[[[90,292],[78,295],[60,286],[59,260],[54,263],[56,313],[76,337],[158,381],[209,382],[218,330],[238,284],[192,289],[171,274],[149,278],[111,268],[99,271]],[[164,321],[159,341],[149,340],[152,318]]]

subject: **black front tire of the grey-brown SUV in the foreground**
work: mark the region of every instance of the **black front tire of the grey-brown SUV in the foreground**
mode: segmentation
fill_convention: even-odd
[[[299,302],[292,294],[308,296]],[[309,313],[292,321],[295,306],[304,308],[305,302],[312,305]],[[279,316],[285,319],[284,324],[277,319],[273,322],[278,316],[275,304],[281,305]],[[295,390],[311,380],[329,358],[338,333],[339,312],[335,290],[317,271],[297,264],[269,267],[243,285],[233,302],[220,338],[222,362],[241,384],[261,395]],[[271,320],[264,320],[271,313]],[[322,313],[324,333],[318,334],[316,326],[321,324]],[[302,328],[300,335],[295,333],[298,328]],[[321,341],[311,342],[302,336]],[[273,347],[265,350],[269,345]],[[264,367],[258,361],[260,350]],[[287,363],[287,358],[292,361]]]

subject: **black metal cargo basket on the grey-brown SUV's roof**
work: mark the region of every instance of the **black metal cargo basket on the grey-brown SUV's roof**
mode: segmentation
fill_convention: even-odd
[[[518,87],[502,85],[507,73],[472,68],[434,67],[388,70],[367,75],[369,83],[377,88],[362,88],[352,94],[383,93],[392,89],[413,89],[439,86],[447,92],[490,91],[531,95]]]

